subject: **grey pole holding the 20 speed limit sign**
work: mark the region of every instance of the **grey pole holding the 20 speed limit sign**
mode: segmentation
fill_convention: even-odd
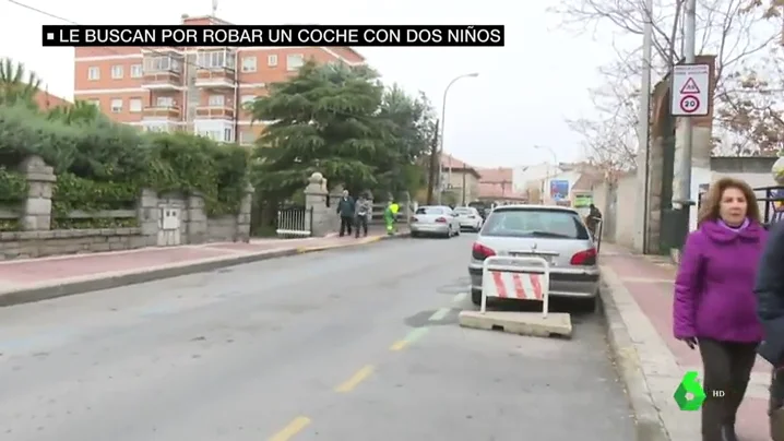
[[[694,47],[697,36],[697,0],[686,0],[686,16],[684,19],[684,61],[692,64],[696,61]],[[688,225],[689,206],[691,202],[691,150],[693,143],[693,122],[691,118],[684,118],[684,148],[680,159],[680,194],[677,201],[685,212]],[[688,231],[688,228],[687,228]]]

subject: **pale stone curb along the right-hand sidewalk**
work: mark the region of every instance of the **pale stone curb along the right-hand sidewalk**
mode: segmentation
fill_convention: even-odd
[[[607,341],[614,363],[623,382],[629,405],[634,417],[637,441],[670,441],[664,421],[654,404],[648,381],[642,373],[640,358],[626,323],[616,306],[610,288],[602,283],[601,309],[607,326]]]

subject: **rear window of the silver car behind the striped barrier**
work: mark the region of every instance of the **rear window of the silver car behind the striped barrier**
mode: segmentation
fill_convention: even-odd
[[[589,233],[572,212],[561,210],[495,211],[482,229],[483,236],[589,239]]]

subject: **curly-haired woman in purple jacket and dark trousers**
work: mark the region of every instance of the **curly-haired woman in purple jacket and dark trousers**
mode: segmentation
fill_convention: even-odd
[[[751,188],[723,178],[708,190],[698,229],[684,247],[673,327],[676,338],[699,346],[702,356],[703,441],[737,441],[735,416],[762,341],[752,289],[765,237]]]

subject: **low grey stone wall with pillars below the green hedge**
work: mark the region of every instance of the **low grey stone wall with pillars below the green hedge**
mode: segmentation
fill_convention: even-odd
[[[20,171],[29,184],[27,200],[20,206],[0,207],[0,218],[16,217],[22,230],[0,233],[0,260],[250,240],[252,187],[247,189],[236,215],[209,217],[204,199],[199,194],[158,194],[143,190],[134,211],[74,211],[69,214],[69,217],[78,218],[135,216],[139,227],[52,230],[51,198],[57,181],[52,168],[39,157],[32,156],[22,163]],[[164,230],[164,213],[177,213],[177,228]]]

